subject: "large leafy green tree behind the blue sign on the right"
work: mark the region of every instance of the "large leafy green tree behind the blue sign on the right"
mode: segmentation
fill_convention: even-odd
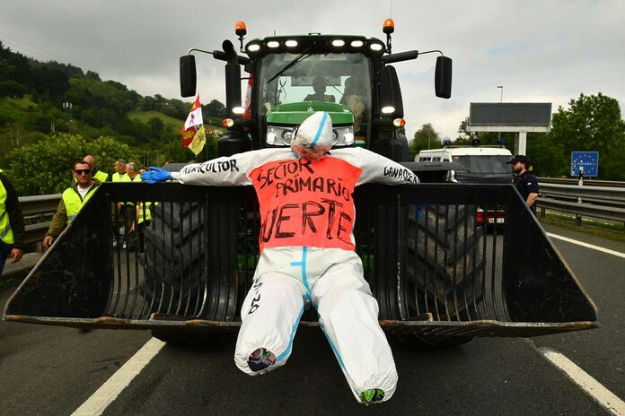
[[[599,178],[623,177],[625,122],[619,101],[603,95],[579,95],[568,108],[558,108],[551,120],[551,137],[562,146],[567,160],[571,152],[599,152]]]

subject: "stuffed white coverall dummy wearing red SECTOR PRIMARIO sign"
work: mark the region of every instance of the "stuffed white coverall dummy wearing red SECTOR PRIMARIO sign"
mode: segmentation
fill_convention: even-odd
[[[321,134],[330,141],[329,149],[330,117],[315,114],[326,115],[325,126],[315,130],[318,139]],[[242,305],[237,367],[256,375],[284,365],[310,301],[357,400],[373,388],[383,390],[383,401],[391,398],[397,371],[355,252],[352,192],[366,182],[406,184],[418,178],[361,148],[335,149],[314,161],[288,148],[270,148],[189,165],[172,176],[183,184],[253,185],[259,197],[261,253]],[[253,371],[248,360],[260,348],[275,354],[275,362]]]

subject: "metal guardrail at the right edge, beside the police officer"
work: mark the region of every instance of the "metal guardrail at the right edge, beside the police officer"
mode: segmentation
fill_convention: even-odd
[[[572,179],[575,180],[575,179]],[[598,182],[598,181],[597,181]],[[578,216],[625,222],[625,187],[559,185],[541,182],[538,206]]]

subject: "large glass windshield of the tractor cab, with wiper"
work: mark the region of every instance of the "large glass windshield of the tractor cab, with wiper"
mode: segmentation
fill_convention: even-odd
[[[260,117],[295,102],[339,103],[354,114],[356,132],[365,135],[371,119],[371,75],[362,54],[269,54],[259,73]]]

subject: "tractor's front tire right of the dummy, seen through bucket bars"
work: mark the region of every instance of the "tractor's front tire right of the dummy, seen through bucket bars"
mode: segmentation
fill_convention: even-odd
[[[404,318],[425,312],[437,321],[480,318],[484,230],[474,227],[475,212],[472,205],[410,207]]]

